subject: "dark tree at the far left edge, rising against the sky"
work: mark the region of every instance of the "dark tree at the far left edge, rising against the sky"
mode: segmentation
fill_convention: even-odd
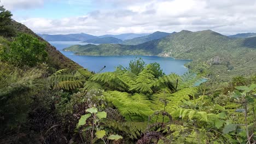
[[[0,35],[3,37],[12,37],[15,35],[15,29],[11,27],[11,16],[10,11],[0,6]]]

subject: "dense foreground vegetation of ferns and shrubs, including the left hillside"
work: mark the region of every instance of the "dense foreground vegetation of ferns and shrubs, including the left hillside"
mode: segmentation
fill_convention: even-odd
[[[92,74],[63,65],[54,47],[21,24],[7,26],[0,143],[255,143],[256,75],[232,77],[212,93],[205,83],[195,86],[200,79],[191,71],[165,75],[140,58]]]

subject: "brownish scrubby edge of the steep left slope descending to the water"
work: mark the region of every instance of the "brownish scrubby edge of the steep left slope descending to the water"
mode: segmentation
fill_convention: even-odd
[[[25,25],[22,25],[19,22],[13,21],[12,25],[16,28],[19,32],[29,33],[37,37],[39,40],[44,41],[47,45],[46,51],[48,52],[48,64],[51,67],[56,69],[64,69],[64,68],[74,68],[80,67],[77,63],[73,62],[71,59],[67,58],[66,56],[62,55],[62,53],[56,50],[56,47],[50,45],[47,41],[39,37],[36,33],[31,31],[31,29],[27,28]]]

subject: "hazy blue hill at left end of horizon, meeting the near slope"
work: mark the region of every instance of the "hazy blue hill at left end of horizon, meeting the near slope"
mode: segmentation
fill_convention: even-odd
[[[86,33],[77,33],[77,34],[38,34],[46,41],[83,41],[88,39],[97,38],[94,35],[86,34]]]

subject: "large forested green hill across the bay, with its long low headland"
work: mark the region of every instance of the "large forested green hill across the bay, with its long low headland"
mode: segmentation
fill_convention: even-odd
[[[102,44],[79,47],[77,55],[158,55],[193,59],[186,66],[212,79],[229,81],[256,71],[255,37],[233,39],[211,30],[181,31],[139,45]],[[72,50],[74,46],[65,50]]]

